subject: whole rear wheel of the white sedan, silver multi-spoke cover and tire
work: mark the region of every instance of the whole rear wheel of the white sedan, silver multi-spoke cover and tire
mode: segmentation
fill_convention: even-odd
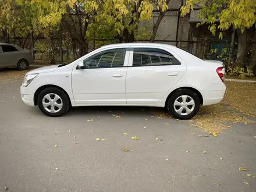
[[[191,90],[177,90],[169,98],[167,108],[176,119],[191,119],[200,108],[200,99]]]

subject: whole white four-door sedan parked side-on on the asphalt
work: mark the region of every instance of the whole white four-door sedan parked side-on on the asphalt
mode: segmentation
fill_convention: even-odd
[[[200,105],[218,104],[226,86],[219,61],[204,61],[166,44],[101,47],[68,65],[31,70],[20,93],[48,116],[70,106],[156,106],[190,119]]]

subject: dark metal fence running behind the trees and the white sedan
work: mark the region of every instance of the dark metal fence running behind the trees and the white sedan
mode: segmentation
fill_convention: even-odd
[[[171,9],[168,9],[157,30],[154,42],[175,45],[191,54],[202,59],[218,59],[223,60],[227,57],[231,30],[224,33],[223,39],[219,40],[218,34],[213,36],[208,26],[196,27],[200,21],[196,19],[198,9],[191,12],[190,15],[180,17],[180,6],[182,0],[172,1]],[[158,11],[154,11],[154,15],[150,21],[140,23],[138,29],[146,29],[149,34],[152,33],[155,22],[159,16]],[[255,47],[255,28],[251,30],[247,41],[247,50],[256,52]],[[0,42],[5,42],[5,38],[0,38]],[[27,37],[9,37],[8,41],[20,47],[30,49],[35,61],[62,63],[70,62],[79,58],[79,46],[76,39],[71,39],[66,35],[62,37],[44,38],[42,35],[33,37],[29,34]],[[148,42],[149,38],[138,38],[137,42]],[[113,39],[96,39],[88,41],[88,51],[93,51],[106,44],[117,43],[118,40]],[[32,48],[33,49],[32,49]],[[255,49],[255,51],[254,51]],[[224,50],[224,51],[223,51]],[[225,50],[227,50],[225,52]],[[234,49],[236,51],[236,48]],[[233,54],[235,57],[236,54]],[[251,54],[248,54],[248,62],[250,62]]]

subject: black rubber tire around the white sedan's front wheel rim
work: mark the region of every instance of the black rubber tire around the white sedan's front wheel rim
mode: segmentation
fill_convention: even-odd
[[[62,108],[61,110],[58,111],[58,107],[54,107],[54,109],[56,109],[56,112],[50,112],[51,111],[51,107],[49,106],[48,110],[44,108],[42,101],[44,99],[45,101],[45,95],[50,95],[51,97],[54,95],[59,96],[61,99],[56,100],[56,102],[58,102],[58,104],[62,104]],[[52,98],[54,99],[54,98]],[[47,116],[51,116],[51,117],[58,117],[58,116],[62,116],[64,115],[70,107],[70,102],[69,102],[69,97],[66,93],[64,93],[61,89],[56,88],[56,87],[48,87],[45,88],[44,90],[41,91],[41,93],[38,95],[37,97],[37,104],[39,109],[41,110],[42,113],[44,113]]]

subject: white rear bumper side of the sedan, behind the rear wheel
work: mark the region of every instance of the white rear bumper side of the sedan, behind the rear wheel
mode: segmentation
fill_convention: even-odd
[[[213,105],[218,104],[222,101],[225,90],[218,90],[218,91],[207,91],[204,95],[202,95],[204,101],[202,105]]]

